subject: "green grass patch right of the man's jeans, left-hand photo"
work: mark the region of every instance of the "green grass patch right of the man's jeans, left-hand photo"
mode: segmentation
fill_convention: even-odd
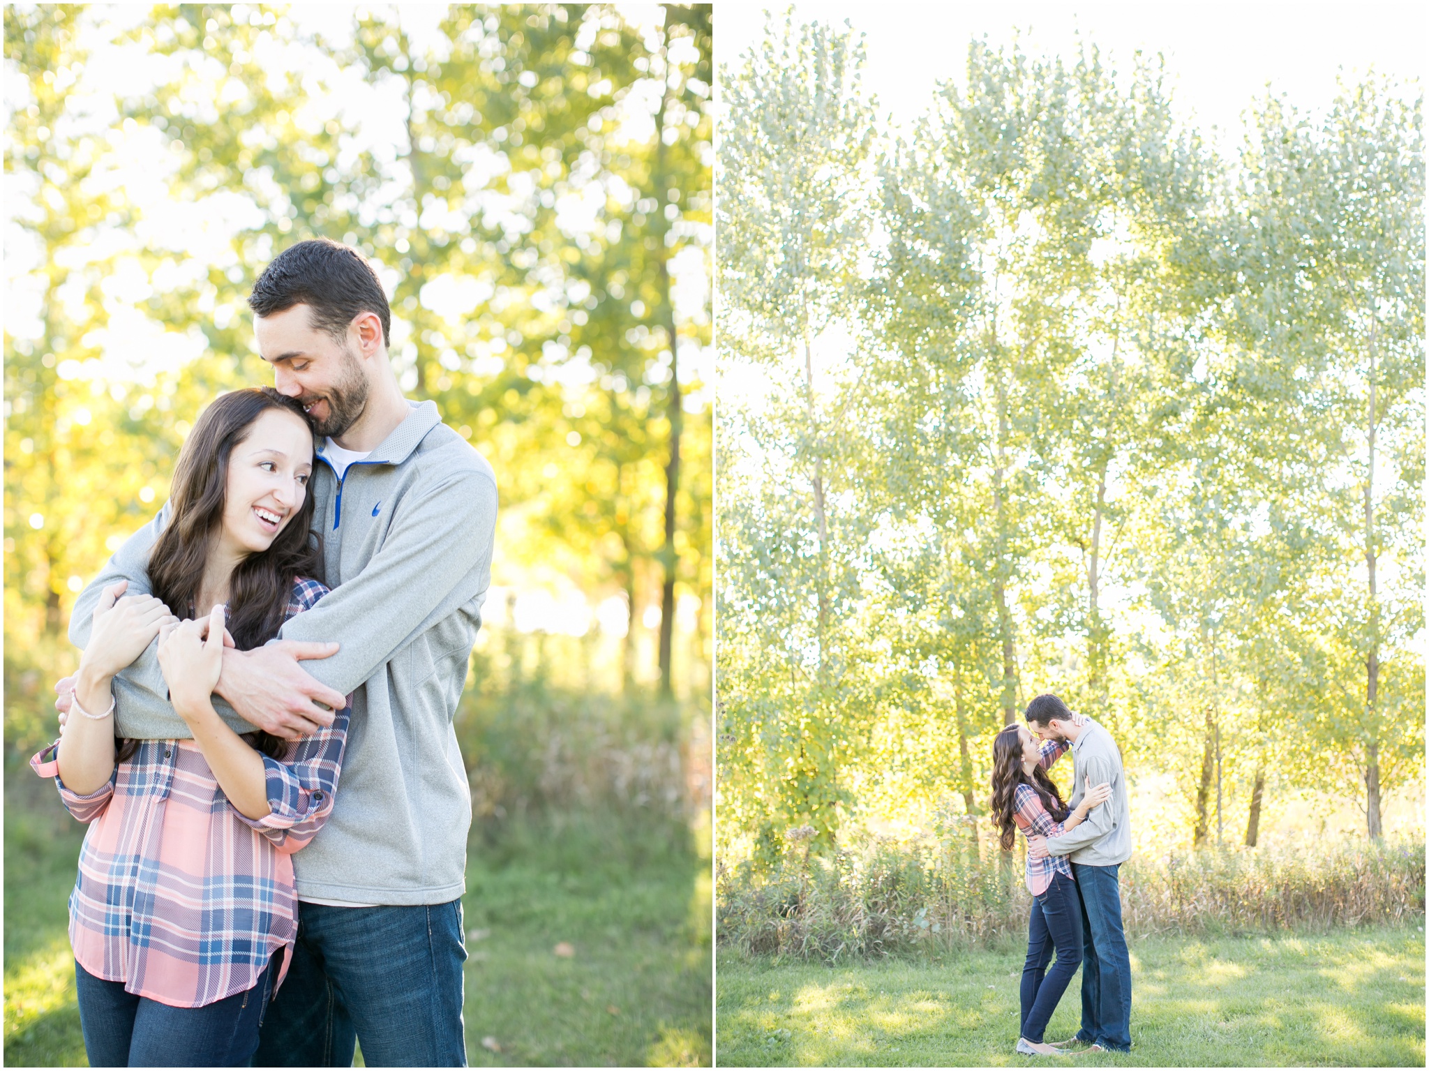
[[[472,1065],[709,1064],[709,861],[670,827],[593,827],[472,845]]]

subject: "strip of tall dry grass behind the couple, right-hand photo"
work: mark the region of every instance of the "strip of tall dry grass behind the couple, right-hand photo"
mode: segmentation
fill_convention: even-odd
[[[1032,898],[1020,855],[969,843],[866,838],[770,874],[720,865],[720,944],[839,961],[1020,940]],[[1120,870],[1129,934],[1246,934],[1422,920],[1415,838],[1136,854]]]

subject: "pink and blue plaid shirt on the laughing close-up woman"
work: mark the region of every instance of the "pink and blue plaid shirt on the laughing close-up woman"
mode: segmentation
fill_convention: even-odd
[[[287,615],[327,588],[299,580]],[[272,814],[246,818],[229,803],[191,740],[143,740],[89,795],[60,783],[57,743],[30,765],[89,823],[70,894],[70,945],[96,978],[160,1004],[197,1008],[257,984],[297,935],[292,854],[333,810],[347,743],[347,708],[333,724],[263,757]],[[276,988],[276,985],[274,985]]]

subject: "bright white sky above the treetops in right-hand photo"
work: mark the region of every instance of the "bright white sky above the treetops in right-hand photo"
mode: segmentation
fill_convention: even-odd
[[[767,6],[780,13],[783,6]],[[763,31],[766,4],[722,3],[714,56],[733,66]],[[1429,67],[1429,6],[1360,0],[1315,3],[802,3],[797,19],[849,20],[867,36],[865,79],[879,110],[915,119],[935,86],[962,81],[967,43],[993,44],[1023,33],[1030,53],[1076,54],[1076,33],[1127,70],[1137,49],[1162,53],[1177,100],[1203,127],[1239,130],[1239,116],[1266,83],[1298,107],[1322,110],[1335,79],[1375,70],[1423,79]]]

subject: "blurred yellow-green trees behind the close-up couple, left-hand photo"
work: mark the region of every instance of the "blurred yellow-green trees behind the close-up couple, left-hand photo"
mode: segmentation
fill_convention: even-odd
[[[70,603],[163,504],[196,414],[272,381],[257,273],[326,236],[382,276],[407,396],[497,471],[459,714],[479,825],[673,823],[684,925],[710,784],[712,34],[707,4],[6,10],[9,760],[53,737]]]

